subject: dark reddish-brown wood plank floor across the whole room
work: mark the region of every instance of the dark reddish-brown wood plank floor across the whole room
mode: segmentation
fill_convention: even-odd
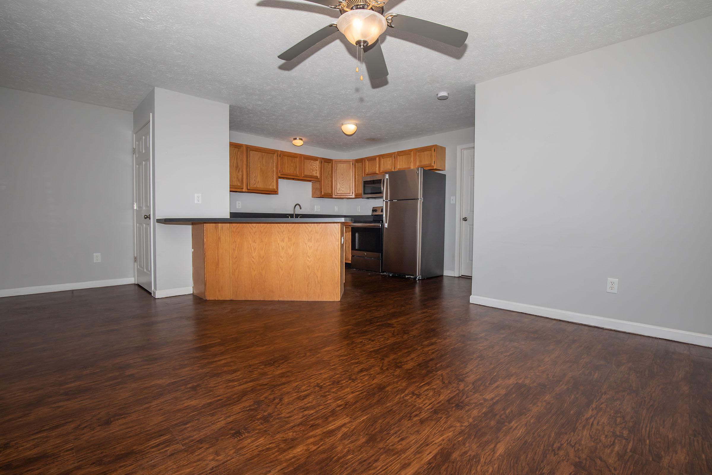
[[[1,298],[0,472],[712,473],[712,349],[474,306],[470,286]]]

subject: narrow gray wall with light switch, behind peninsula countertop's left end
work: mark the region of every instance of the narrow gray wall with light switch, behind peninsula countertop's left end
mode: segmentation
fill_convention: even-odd
[[[154,130],[155,217],[229,216],[229,106],[155,88]],[[154,239],[156,291],[192,287],[190,227],[156,224]]]

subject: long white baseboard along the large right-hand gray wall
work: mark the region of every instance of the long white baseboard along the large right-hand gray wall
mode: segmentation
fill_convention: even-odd
[[[712,335],[704,333],[694,333],[685,330],[675,330],[674,328],[659,327],[656,325],[646,325],[645,323],[635,323],[626,320],[616,320],[615,318],[597,317],[596,315],[586,315],[585,313],[569,312],[567,310],[557,310],[555,308],[538,307],[527,303],[517,303],[497,300],[496,298],[470,296],[470,303],[488,307],[503,308],[515,312],[530,313],[540,317],[555,318],[567,322],[583,323],[594,327],[608,328],[637,335],[664,338],[665,340],[681,341],[693,345],[708,346],[712,348]]]

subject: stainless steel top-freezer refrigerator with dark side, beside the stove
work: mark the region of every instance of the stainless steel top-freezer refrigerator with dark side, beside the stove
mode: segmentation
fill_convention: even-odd
[[[388,172],[383,205],[383,271],[443,275],[445,175],[422,168]]]

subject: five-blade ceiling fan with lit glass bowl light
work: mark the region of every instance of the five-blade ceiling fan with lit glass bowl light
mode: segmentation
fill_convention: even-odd
[[[338,9],[341,16],[336,23],[310,34],[287,51],[277,56],[283,61],[292,61],[319,41],[333,35],[337,31],[346,36],[346,39],[363,51],[363,60],[368,68],[371,79],[384,78],[388,75],[388,68],[383,57],[383,51],[378,37],[386,28],[398,28],[409,31],[426,38],[431,38],[451,46],[465,44],[467,31],[462,31],[451,26],[445,26],[416,18],[414,16],[389,13],[384,14],[383,8],[388,0],[306,0],[314,4]],[[336,5],[333,4],[337,1]]]

